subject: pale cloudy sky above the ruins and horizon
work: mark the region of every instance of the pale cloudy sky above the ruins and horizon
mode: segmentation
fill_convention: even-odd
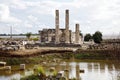
[[[120,0],[0,0],[0,34],[37,33],[55,28],[55,10],[60,12],[60,27],[65,27],[65,10],[70,10],[70,29],[80,24],[82,33],[120,33]]]

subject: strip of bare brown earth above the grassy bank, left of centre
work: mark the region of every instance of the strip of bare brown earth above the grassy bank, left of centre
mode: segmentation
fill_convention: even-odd
[[[18,51],[0,51],[0,56],[10,56],[10,57],[24,57],[33,56],[38,54],[48,54],[48,53],[64,53],[73,52],[76,48],[68,47],[40,47],[37,49],[24,49]]]

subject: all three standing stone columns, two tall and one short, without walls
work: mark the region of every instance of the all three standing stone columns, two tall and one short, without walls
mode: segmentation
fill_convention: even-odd
[[[55,43],[60,43],[59,41],[59,10],[55,11]],[[76,32],[75,32],[75,43],[79,44],[79,24],[76,24]],[[70,43],[70,32],[69,32],[69,10],[65,11],[65,43]]]

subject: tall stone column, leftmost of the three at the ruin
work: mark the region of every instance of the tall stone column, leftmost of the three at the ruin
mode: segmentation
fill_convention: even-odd
[[[55,11],[55,43],[58,44],[59,43],[59,10]]]

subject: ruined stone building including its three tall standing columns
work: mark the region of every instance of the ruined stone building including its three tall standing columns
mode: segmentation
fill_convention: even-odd
[[[59,28],[59,10],[55,11],[55,29],[43,29],[39,31],[40,42],[61,44],[80,44],[79,24],[76,32],[69,30],[69,10],[65,10],[65,29]]]

